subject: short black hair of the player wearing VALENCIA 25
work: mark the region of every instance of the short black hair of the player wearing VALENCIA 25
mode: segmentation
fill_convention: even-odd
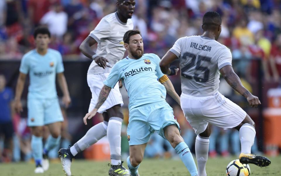
[[[203,26],[205,29],[222,24],[220,14],[215,11],[206,12],[203,16]]]

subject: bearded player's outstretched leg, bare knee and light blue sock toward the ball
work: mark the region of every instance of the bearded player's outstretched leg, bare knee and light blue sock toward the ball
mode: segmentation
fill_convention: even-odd
[[[184,139],[179,134],[179,128],[176,124],[166,126],[164,128],[165,138],[171,143],[172,147],[179,154],[185,167],[188,169],[191,176],[197,176],[197,168],[193,156],[184,142]]]

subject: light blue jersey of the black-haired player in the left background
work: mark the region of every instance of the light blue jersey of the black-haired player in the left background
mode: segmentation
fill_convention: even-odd
[[[61,54],[48,49],[43,56],[36,49],[31,50],[23,56],[20,72],[29,73],[28,98],[56,98],[56,74],[64,72]]]

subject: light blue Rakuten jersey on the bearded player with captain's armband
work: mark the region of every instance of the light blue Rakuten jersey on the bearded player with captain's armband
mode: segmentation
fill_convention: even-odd
[[[114,88],[118,80],[122,79],[129,96],[129,110],[165,101],[166,89],[158,82],[164,76],[159,62],[160,58],[153,53],[144,54],[137,60],[126,57],[116,62],[104,84]]]

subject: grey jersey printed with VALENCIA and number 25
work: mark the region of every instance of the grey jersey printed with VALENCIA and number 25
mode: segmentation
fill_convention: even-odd
[[[180,59],[181,91],[191,96],[217,93],[219,70],[232,65],[231,52],[225,45],[199,35],[179,38],[169,51]]]

